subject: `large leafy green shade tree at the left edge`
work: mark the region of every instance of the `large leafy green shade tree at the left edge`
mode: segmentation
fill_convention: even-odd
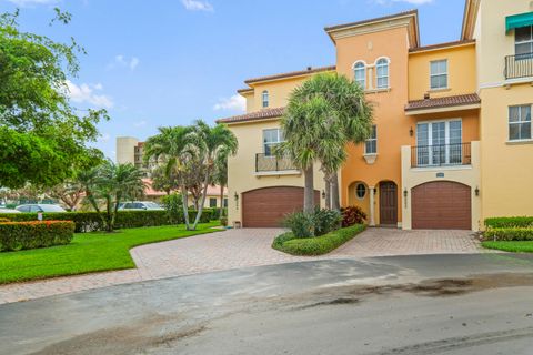
[[[83,49],[23,32],[17,19],[0,16],[0,186],[52,186],[93,154],[86,143],[107,113],[69,101],[68,77],[78,73]],[[57,10],[54,20],[68,23],[70,14]]]

